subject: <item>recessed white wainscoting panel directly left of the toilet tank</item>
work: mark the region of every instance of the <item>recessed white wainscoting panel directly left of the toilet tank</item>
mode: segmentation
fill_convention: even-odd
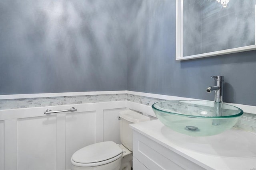
[[[117,117],[119,115],[119,112],[125,109],[126,108],[107,109],[103,111],[103,141],[114,141],[115,143],[121,144],[119,128],[120,120],[118,120]]]

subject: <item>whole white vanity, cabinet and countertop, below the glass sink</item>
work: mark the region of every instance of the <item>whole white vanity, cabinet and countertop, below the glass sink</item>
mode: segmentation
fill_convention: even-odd
[[[209,137],[177,133],[159,120],[131,124],[134,170],[256,168],[256,134],[230,129]]]

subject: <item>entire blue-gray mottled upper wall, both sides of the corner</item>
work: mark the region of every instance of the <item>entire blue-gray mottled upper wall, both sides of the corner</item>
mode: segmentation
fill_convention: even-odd
[[[174,0],[0,3],[1,94],[132,90],[213,100],[205,89],[222,75],[225,102],[256,106],[256,51],[175,61]]]

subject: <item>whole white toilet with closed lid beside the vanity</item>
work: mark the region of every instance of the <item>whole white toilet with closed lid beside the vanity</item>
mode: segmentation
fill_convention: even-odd
[[[120,111],[122,145],[106,141],[88,145],[71,157],[71,170],[130,170],[132,166],[132,129],[129,124],[150,121],[131,110]]]

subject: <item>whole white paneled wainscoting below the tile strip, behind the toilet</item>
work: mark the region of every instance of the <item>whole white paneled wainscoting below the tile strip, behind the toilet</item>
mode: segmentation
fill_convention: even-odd
[[[124,109],[146,113],[128,101],[1,110],[0,170],[70,170],[76,150],[102,142],[120,142],[117,116]],[[44,114],[46,109],[77,111]]]

